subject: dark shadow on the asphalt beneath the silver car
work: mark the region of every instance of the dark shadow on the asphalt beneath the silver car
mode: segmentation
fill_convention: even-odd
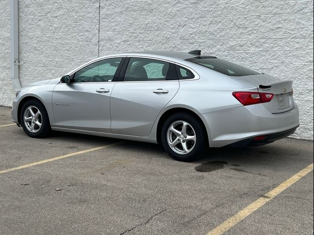
[[[89,142],[94,144],[97,143],[100,145],[104,143],[124,141],[121,139],[57,131],[52,132],[52,136],[50,138],[64,141],[68,139],[75,139],[77,144],[79,144],[79,142]],[[273,164],[282,164],[283,162],[285,162],[285,164],[288,164],[287,161],[291,161],[292,164],[292,159],[299,155],[299,151],[297,149],[291,151],[286,143],[287,139],[285,143],[281,143],[281,141],[282,140],[276,141],[275,143],[255,147],[206,148],[197,161],[186,164],[202,164],[206,162],[213,162],[213,164],[225,163],[233,164],[234,166],[240,166],[241,164],[263,164],[264,162],[269,161],[272,161]],[[135,149],[136,151],[140,151],[142,156],[144,155],[148,158],[171,160],[171,157],[164,151],[162,146],[159,144],[140,141],[125,141],[125,143],[120,146],[123,146],[126,149]],[[288,158],[287,156],[290,157]]]

